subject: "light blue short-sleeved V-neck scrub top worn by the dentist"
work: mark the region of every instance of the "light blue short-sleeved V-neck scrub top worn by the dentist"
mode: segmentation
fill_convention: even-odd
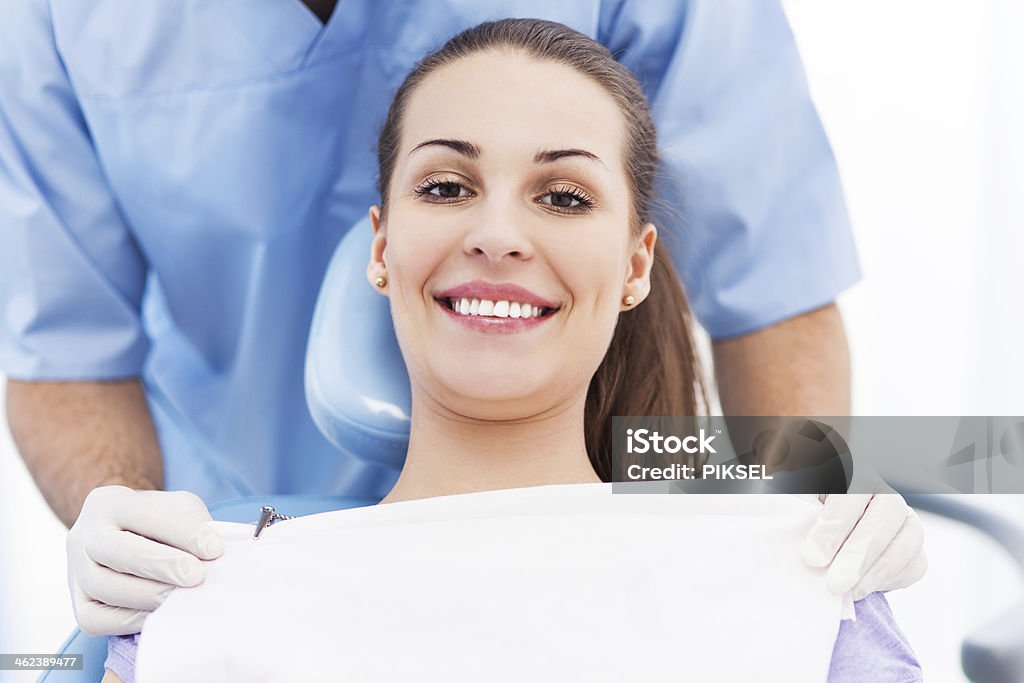
[[[309,417],[310,316],[377,201],[394,89],[509,12],[594,36],[639,77],[677,209],[659,233],[713,337],[859,279],[775,1],[341,0],[325,26],[300,0],[20,0],[0,22],[0,368],[141,375],[169,489],[382,495],[395,472]]]

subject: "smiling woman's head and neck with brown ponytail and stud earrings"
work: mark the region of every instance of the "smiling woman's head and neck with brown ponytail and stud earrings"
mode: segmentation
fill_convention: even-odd
[[[451,435],[424,458],[437,463],[482,419],[520,445],[517,431],[543,426],[575,476],[608,480],[612,415],[707,404],[689,307],[650,222],[654,127],[606,50],[545,22],[465,32],[398,89],[378,157],[368,276],[388,282],[412,378],[408,461],[436,442],[418,431]],[[537,315],[524,321],[523,303]],[[515,334],[480,336],[503,332]],[[410,485],[403,473],[385,500],[425,493]]]

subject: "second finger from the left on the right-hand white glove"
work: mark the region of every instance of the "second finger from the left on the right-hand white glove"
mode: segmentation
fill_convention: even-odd
[[[852,590],[899,533],[909,512],[902,496],[874,496],[828,566],[825,574],[828,590],[833,593]]]

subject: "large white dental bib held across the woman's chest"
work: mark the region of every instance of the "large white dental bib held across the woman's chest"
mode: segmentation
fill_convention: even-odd
[[[572,484],[211,522],[227,550],[136,678],[825,681],[852,603],[801,560],[819,508]]]

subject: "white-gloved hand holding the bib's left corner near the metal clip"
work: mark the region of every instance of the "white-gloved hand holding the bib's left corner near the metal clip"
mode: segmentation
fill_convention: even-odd
[[[203,501],[186,490],[99,486],[68,531],[68,587],[89,636],[137,633],[175,587],[196,586],[197,558],[224,552]]]

